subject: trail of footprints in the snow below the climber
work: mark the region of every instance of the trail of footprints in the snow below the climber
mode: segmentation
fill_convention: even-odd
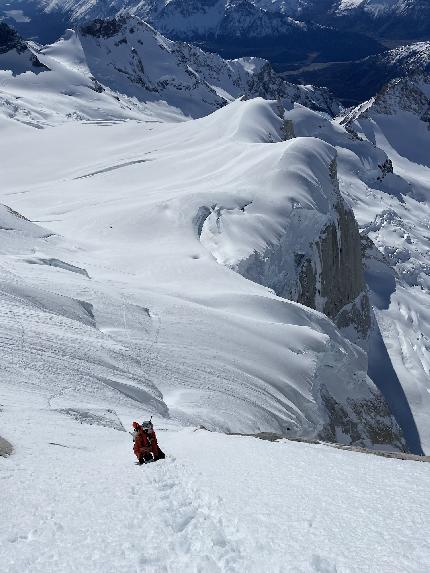
[[[148,471],[145,482],[155,502],[147,522],[152,535],[139,559],[142,566],[154,571],[163,566],[169,571],[186,571],[193,556],[194,570],[242,570],[237,524],[224,522],[221,500],[200,492],[183,464],[171,458]],[[137,513],[148,511],[140,490],[133,486],[131,493],[138,500]]]

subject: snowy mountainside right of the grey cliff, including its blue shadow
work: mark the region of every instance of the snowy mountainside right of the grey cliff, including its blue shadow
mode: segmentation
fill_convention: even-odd
[[[365,241],[375,314],[369,373],[416,451],[430,443],[429,91],[426,76],[396,80],[335,122],[300,106],[286,115],[297,135],[337,148],[340,189]]]

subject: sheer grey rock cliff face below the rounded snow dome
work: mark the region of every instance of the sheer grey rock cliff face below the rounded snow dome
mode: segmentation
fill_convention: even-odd
[[[370,306],[361,239],[354,214],[339,193],[335,161],[330,175],[337,196],[334,218],[308,249],[291,251],[291,235],[300,233],[302,224],[301,213],[293,211],[288,233],[264,252],[254,252],[241,261],[236,270],[273,289],[278,296],[323,312],[345,329],[350,339],[364,346],[370,329]]]

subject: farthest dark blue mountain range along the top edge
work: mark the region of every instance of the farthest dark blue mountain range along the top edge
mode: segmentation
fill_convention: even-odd
[[[382,51],[375,40],[354,32],[296,21],[279,12],[268,12],[249,0],[171,0],[126,2],[58,0],[11,0],[11,6],[25,14],[26,7],[68,20],[76,27],[94,19],[135,15],[157,30],[182,41],[199,42],[227,58],[258,56],[270,59],[279,68],[286,62],[306,62],[319,55],[321,61],[358,59]],[[9,6],[10,8],[10,6]],[[10,10],[8,10],[10,12]],[[11,18],[9,17],[9,20]],[[20,32],[29,37],[37,34],[29,22],[18,21]],[[38,26],[38,38],[52,42],[50,29]]]

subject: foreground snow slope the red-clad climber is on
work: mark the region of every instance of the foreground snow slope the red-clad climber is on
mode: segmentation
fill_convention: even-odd
[[[139,467],[120,421],[128,429],[145,409],[118,405],[91,418],[81,401],[80,423],[50,410],[40,390],[16,393],[2,381],[0,393],[0,431],[15,446],[0,457],[9,573],[430,567],[429,464],[156,419],[167,459]]]

